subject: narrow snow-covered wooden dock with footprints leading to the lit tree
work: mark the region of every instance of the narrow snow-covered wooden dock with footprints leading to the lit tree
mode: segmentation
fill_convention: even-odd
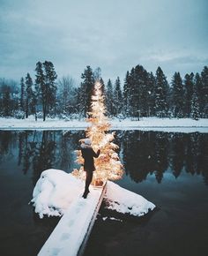
[[[79,197],[63,215],[38,256],[81,256],[107,190],[92,188],[87,199]]]

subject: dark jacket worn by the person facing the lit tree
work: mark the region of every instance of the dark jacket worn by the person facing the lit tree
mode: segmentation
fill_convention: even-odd
[[[93,151],[93,148],[88,146],[88,147],[81,147],[81,151],[82,151],[82,157],[85,159],[84,170],[85,171],[95,170],[93,157],[99,157],[100,150],[98,150],[96,154]]]

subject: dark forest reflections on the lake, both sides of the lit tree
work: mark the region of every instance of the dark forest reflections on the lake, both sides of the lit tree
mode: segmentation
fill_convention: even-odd
[[[152,174],[160,184],[164,173],[171,169],[175,178],[185,170],[203,176],[208,184],[206,134],[116,131],[116,135],[126,175],[136,183]],[[71,171],[75,167],[78,139],[84,136],[84,131],[2,131],[0,163],[17,156],[24,174],[29,169],[33,171],[35,184],[43,169]]]

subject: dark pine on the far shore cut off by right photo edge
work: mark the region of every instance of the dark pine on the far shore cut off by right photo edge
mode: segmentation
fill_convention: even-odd
[[[204,66],[203,71],[201,72],[202,78],[202,98],[201,105],[203,109],[203,117],[208,117],[208,67]]]

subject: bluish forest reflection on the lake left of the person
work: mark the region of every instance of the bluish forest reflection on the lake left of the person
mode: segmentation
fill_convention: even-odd
[[[11,156],[16,156],[24,174],[30,169],[33,171],[35,184],[44,169],[71,171],[74,166],[74,150],[78,147],[78,139],[83,136],[83,131],[0,132],[0,163],[8,162]]]

